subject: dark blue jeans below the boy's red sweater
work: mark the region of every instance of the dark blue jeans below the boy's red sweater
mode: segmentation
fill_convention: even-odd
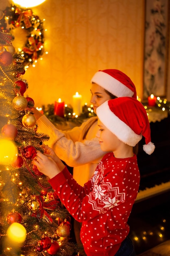
[[[136,256],[133,243],[129,237],[123,240],[115,256]]]

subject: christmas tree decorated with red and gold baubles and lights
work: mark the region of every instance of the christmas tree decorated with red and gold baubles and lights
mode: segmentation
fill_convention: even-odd
[[[69,213],[32,163],[48,135],[37,132],[13,40],[0,29],[0,255],[75,255]]]

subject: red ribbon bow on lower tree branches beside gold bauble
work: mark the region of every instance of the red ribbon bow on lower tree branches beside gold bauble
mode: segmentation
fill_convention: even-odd
[[[49,201],[44,201],[44,197],[42,195],[31,195],[31,199],[37,200],[39,202],[39,211],[37,212],[29,212],[29,216],[36,218],[44,218],[48,223],[52,223],[52,218],[49,216],[46,210],[54,210],[57,207],[57,201],[54,197]]]

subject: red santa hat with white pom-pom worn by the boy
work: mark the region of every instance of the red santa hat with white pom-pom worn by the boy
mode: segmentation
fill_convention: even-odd
[[[120,97],[105,101],[96,109],[100,121],[129,146],[135,146],[142,136],[145,138],[144,151],[150,155],[155,145],[150,139],[150,124],[142,103],[131,97]]]

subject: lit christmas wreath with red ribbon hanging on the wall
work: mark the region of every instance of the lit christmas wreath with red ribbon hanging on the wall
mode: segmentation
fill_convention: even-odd
[[[15,36],[15,41],[19,45],[13,46],[15,51],[22,55],[24,66],[33,64],[43,54],[43,20],[40,20],[31,9],[21,9],[16,5],[7,7],[0,20],[0,28],[4,33]]]

